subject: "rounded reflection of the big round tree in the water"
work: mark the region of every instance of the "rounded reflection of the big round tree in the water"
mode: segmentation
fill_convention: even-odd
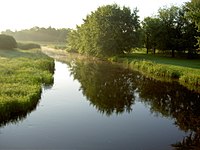
[[[101,113],[109,116],[131,111],[136,86],[130,70],[105,62],[76,61],[71,73],[81,83],[83,95]]]

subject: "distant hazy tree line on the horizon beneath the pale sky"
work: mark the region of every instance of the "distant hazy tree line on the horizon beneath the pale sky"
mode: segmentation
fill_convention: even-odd
[[[2,34],[13,36],[17,41],[34,41],[34,42],[66,42],[67,34],[70,29],[55,29],[52,27],[40,28],[33,27],[21,31],[3,31]]]

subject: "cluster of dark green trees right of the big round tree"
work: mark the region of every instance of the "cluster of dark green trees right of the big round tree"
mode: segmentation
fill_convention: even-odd
[[[185,17],[187,11],[185,7],[171,6],[161,8],[157,17],[147,17],[143,21],[144,43],[149,49],[159,49],[163,52],[175,51],[188,52],[188,57],[192,58],[195,54],[197,43],[195,24]],[[193,53],[194,52],[194,53]]]

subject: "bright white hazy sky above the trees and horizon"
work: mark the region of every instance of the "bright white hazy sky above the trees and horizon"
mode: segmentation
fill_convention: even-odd
[[[182,5],[190,0],[0,0],[0,31],[34,26],[75,28],[101,5],[117,3],[139,9],[140,19],[155,14],[158,8]]]

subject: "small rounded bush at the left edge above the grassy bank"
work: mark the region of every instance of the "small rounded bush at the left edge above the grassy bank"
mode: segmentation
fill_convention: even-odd
[[[12,36],[0,34],[0,49],[14,49],[17,42]]]

